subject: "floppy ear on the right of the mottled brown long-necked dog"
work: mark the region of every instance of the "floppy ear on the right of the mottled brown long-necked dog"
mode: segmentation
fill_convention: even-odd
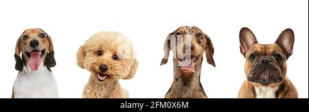
[[[214,46],[212,45],[212,42],[207,35],[206,35],[205,53],[206,53],[207,63],[216,67],[216,64],[215,64],[214,58],[213,58],[213,56],[214,56]]]

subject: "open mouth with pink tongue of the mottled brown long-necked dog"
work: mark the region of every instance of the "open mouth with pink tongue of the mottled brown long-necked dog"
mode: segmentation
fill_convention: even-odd
[[[191,73],[196,73],[194,64],[198,60],[199,55],[184,55],[179,58],[179,66],[181,66],[181,70],[183,72],[191,72]]]

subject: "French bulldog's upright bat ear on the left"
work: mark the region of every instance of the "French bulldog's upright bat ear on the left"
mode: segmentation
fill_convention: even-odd
[[[251,48],[253,44],[258,43],[258,40],[256,40],[253,32],[250,29],[248,29],[247,27],[243,27],[242,29],[240,29],[239,42],[240,53],[245,56],[249,48]]]

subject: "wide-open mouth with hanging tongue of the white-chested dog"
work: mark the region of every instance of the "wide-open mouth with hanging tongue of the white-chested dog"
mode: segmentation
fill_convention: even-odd
[[[38,70],[38,67],[41,65],[43,56],[45,55],[45,49],[42,51],[33,50],[31,52],[26,52],[25,55],[29,58],[29,66],[32,71]]]

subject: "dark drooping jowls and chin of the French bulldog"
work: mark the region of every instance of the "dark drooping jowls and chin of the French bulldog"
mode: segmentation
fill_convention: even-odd
[[[276,67],[255,67],[251,69],[251,75],[247,76],[248,81],[260,83],[267,86],[274,83],[281,83],[284,79],[282,71]]]

